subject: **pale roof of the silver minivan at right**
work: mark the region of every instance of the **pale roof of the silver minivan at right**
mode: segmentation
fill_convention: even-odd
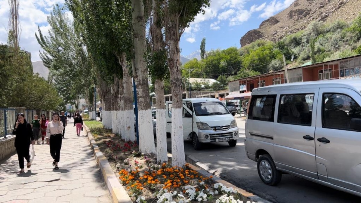
[[[279,91],[279,90],[300,90],[306,88],[320,88],[320,87],[346,87],[355,91],[361,90],[361,79],[334,79],[324,81],[312,82],[293,82],[279,85],[270,85],[266,87],[259,87],[252,90],[252,94],[264,91]]]

